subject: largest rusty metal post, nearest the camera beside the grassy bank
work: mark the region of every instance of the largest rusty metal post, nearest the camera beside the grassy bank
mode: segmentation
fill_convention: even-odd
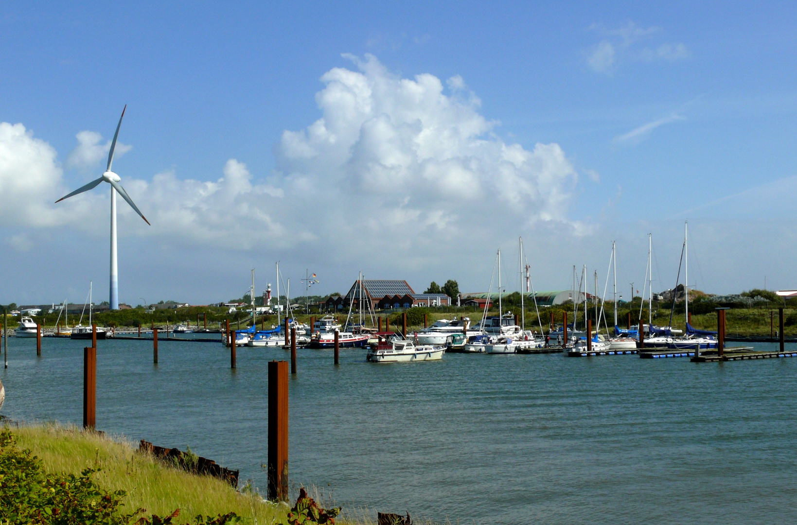
[[[269,500],[288,500],[288,363],[269,362]]]

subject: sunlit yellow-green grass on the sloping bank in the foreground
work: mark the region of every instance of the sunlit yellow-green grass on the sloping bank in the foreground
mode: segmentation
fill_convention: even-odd
[[[80,474],[100,467],[95,480],[107,490],[124,490],[124,509],[143,507],[147,513],[169,515],[180,509],[180,523],[195,515],[233,511],[244,523],[285,523],[288,507],[265,502],[256,493],[241,493],[210,476],[196,476],[167,467],[136,452],[126,441],[113,441],[75,427],[35,425],[12,428],[18,447],[31,449],[47,472]]]

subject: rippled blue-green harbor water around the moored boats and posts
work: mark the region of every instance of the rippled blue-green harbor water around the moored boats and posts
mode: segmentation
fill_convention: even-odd
[[[82,421],[86,342],[10,339],[2,414]],[[97,343],[97,428],[186,446],[265,492],[274,348]],[[757,348],[774,349],[761,343]],[[795,348],[795,345],[787,345]],[[794,523],[797,358],[297,351],[289,477],[348,511],[452,523]]]

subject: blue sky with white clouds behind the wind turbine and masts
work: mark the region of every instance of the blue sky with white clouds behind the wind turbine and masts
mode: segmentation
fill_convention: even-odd
[[[318,292],[360,269],[481,290],[520,234],[536,287],[556,289],[573,264],[603,280],[615,239],[618,280],[641,281],[653,233],[669,288],[685,219],[690,284],[792,288],[795,10],[2,4],[0,232],[18,278],[0,301],[78,300],[88,280],[104,299],[106,190],[53,201],[101,173],[124,104],[114,168],[153,222],[120,214],[125,302],[240,296],[277,260]],[[357,116],[346,96],[365,97]]]

